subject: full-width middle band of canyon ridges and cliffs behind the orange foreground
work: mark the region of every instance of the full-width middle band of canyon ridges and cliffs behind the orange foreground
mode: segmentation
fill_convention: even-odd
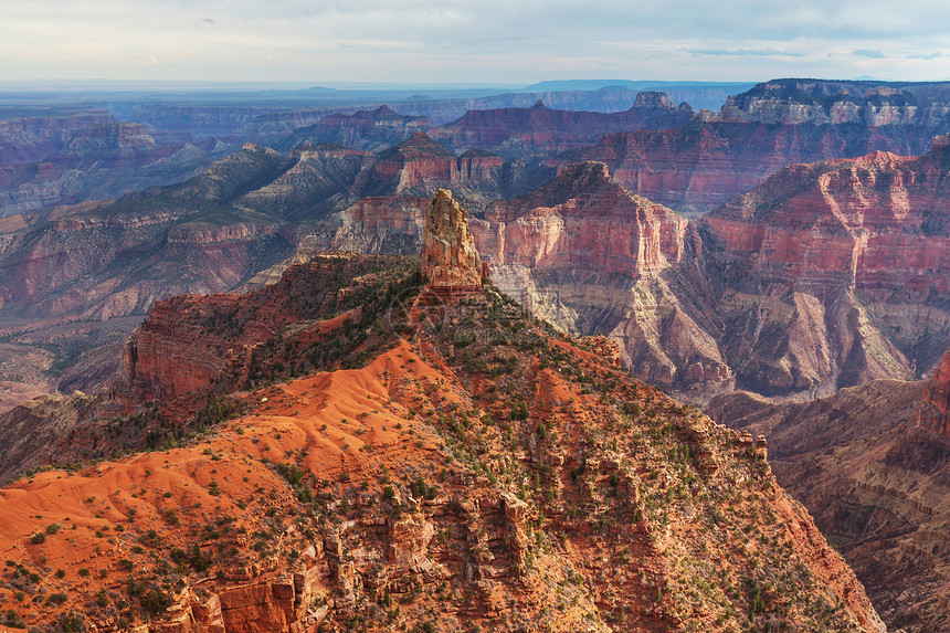
[[[569,331],[613,338],[637,376],[694,402],[733,387],[827,394],[927,373],[950,346],[937,299],[950,238],[939,211],[946,151],[938,139],[920,157],[783,168],[692,222],[600,162],[562,166],[543,182],[543,171],[485,151],[458,156],[419,131],[378,155],[247,145],[180,186],[11,231],[0,299],[9,319],[35,329],[236,288],[292,253],[416,252],[425,197],[448,188],[473,210],[499,287]],[[80,243],[98,243],[96,261],[48,279]],[[144,264],[146,243],[155,250]],[[122,266],[133,252],[137,267]],[[205,272],[182,275],[189,257]],[[171,285],[158,294],[159,282],[142,277]]]

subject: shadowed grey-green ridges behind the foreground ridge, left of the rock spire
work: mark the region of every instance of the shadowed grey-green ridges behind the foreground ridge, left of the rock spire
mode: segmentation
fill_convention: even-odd
[[[10,324],[4,334],[25,338],[12,340],[15,355],[0,348],[0,405],[56,382],[70,391],[102,388],[116,346],[137,325],[128,317],[157,299],[236,288],[300,244],[318,244],[316,252],[419,252],[424,212],[413,210],[424,211],[422,197],[453,187],[466,203],[485,204],[547,173],[517,166],[503,173],[500,163],[479,150],[455,157],[424,135],[382,157],[332,145],[281,154],[246,144],[180,184],[4,220],[0,327]],[[0,180],[2,173],[0,167]],[[400,187],[407,187],[401,197],[388,198]],[[71,320],[97,325],[64,336],[57,328]],[[38,345],[55,351],[41,352],[31,372],[41,376],[28,389],[27,374],[12,369]],[[65,374],[48,376],[57,354],[70,357]],[[93,357],[99,367],[86,362]]]

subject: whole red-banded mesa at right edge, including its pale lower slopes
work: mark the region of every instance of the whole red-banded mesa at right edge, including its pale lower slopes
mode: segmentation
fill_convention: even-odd
[[[703,219],[740,384],[827,394],[936,366],[950,347],[946,152],[792,166]]]

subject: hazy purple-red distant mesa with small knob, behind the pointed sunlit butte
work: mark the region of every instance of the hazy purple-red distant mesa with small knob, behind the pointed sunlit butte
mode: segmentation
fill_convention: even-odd
[[[591,144],[603,134],[630,129],[680,127],[693,118],[663,93],[640,93],[627,110],[603,114],[546,107],[471,110],[458,120],[430,130],[450,147],[489,149],[506,157],[552,156]]]

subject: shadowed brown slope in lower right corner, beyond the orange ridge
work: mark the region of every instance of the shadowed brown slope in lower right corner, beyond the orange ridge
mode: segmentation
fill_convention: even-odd
[[[728,426],[768,435],[779,482],[842,551],[887,625],[908,633],[950,625],[950,443],[938,434],[946,378],[877,380],[806,403],[737,392],[709,404]]]

